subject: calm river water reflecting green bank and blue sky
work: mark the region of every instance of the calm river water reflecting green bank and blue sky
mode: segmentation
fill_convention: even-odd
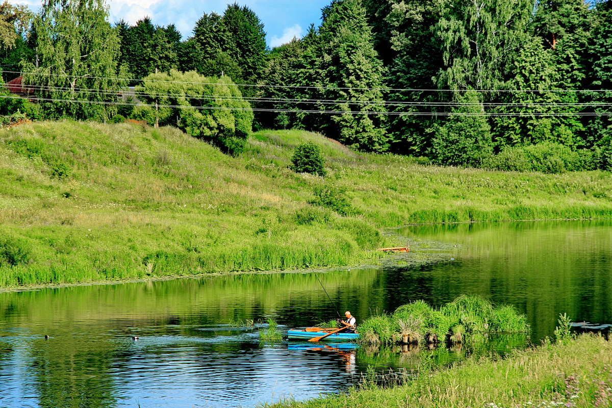
[[[420,252],[384,268],[2,293],[0,407],[254,407],[341,391],[368,366],[444,365],[529,341],[489,336],[476,349],[435,350],[271,345],[259,343],[257,328],[230,321],[274,317],[286,330],[332,319],[335,309],[365,319],[411,300],[440,306],[477,294],[526,313],[534,343],[551,335],[559,313],[612,323],[612,221],[399,232]],[[439,261],[400,266],[425,252]]]

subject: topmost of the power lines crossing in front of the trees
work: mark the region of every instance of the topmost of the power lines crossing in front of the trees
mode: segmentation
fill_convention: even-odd
[[[199,85],[219,85],[219,83],[204,83],[204,82],[189,82],[189,81],[170,81],[170,80],[136,80],[130,78],[115,78],[111,76],[90,76],[90,75],[68,75],[46,72],[19,72],[19,71],[4,71],[7,73],[15,73],[18,75],[42,75],[42,76],[61,76],[67,78],[84,78],[94,80],[112,80],[112,81],[143,81],[143,82],[162,82],[173,84],[199,84]],[[543,92],[612,92],[612,89],[417,89],[417,88],[370,88],[370,87],[338,87],[338,86],[300,86],[300,85],[271,85],[271,84],[233,84],[236,86],[256,87],[256,88],[288,88],[288,89],[338,89],[338,90],[353,90],[353,91],[398,91],[398,92],[510,92],[510,93],[543,93]]]

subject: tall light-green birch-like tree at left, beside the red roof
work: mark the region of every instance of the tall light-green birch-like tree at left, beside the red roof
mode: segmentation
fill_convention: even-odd
[[[119,37],[107,19],[105,0],[43,2],[31,34],[39,67],[32,61],[22,66],[46,116],[105,120],[114,115],[107,103],[116,102],[121,83],[114,78],[124,72],[118,66]]]

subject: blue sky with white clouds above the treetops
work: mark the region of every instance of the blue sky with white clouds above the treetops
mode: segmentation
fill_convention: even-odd
[[[145,16],[154,24],[166,26],[174,23],[184,39],[192,34],[193,26],[204,13],[223,13],[228,2],[234,0],[107,0],[111,23],[124,19],[130,24]],[[294,36],[306,34],[310,23],[321,23],[321,9],[331,0],[242,0],[264,23],[269,46],[290,41]],[[13,4],[26,4],[39,10],[41,0],[17,0]]]

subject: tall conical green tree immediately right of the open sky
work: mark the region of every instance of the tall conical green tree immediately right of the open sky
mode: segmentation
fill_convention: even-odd
[[[338,101],[318,108],[345,112],[332,114],[331,120],[319,116],[312,122],[315,130],[356,149],[386,151],[384,69],[360,0],[335,0],[325,7],[321,28],[304,56],[305,78],[319,87],[313,98]]]

